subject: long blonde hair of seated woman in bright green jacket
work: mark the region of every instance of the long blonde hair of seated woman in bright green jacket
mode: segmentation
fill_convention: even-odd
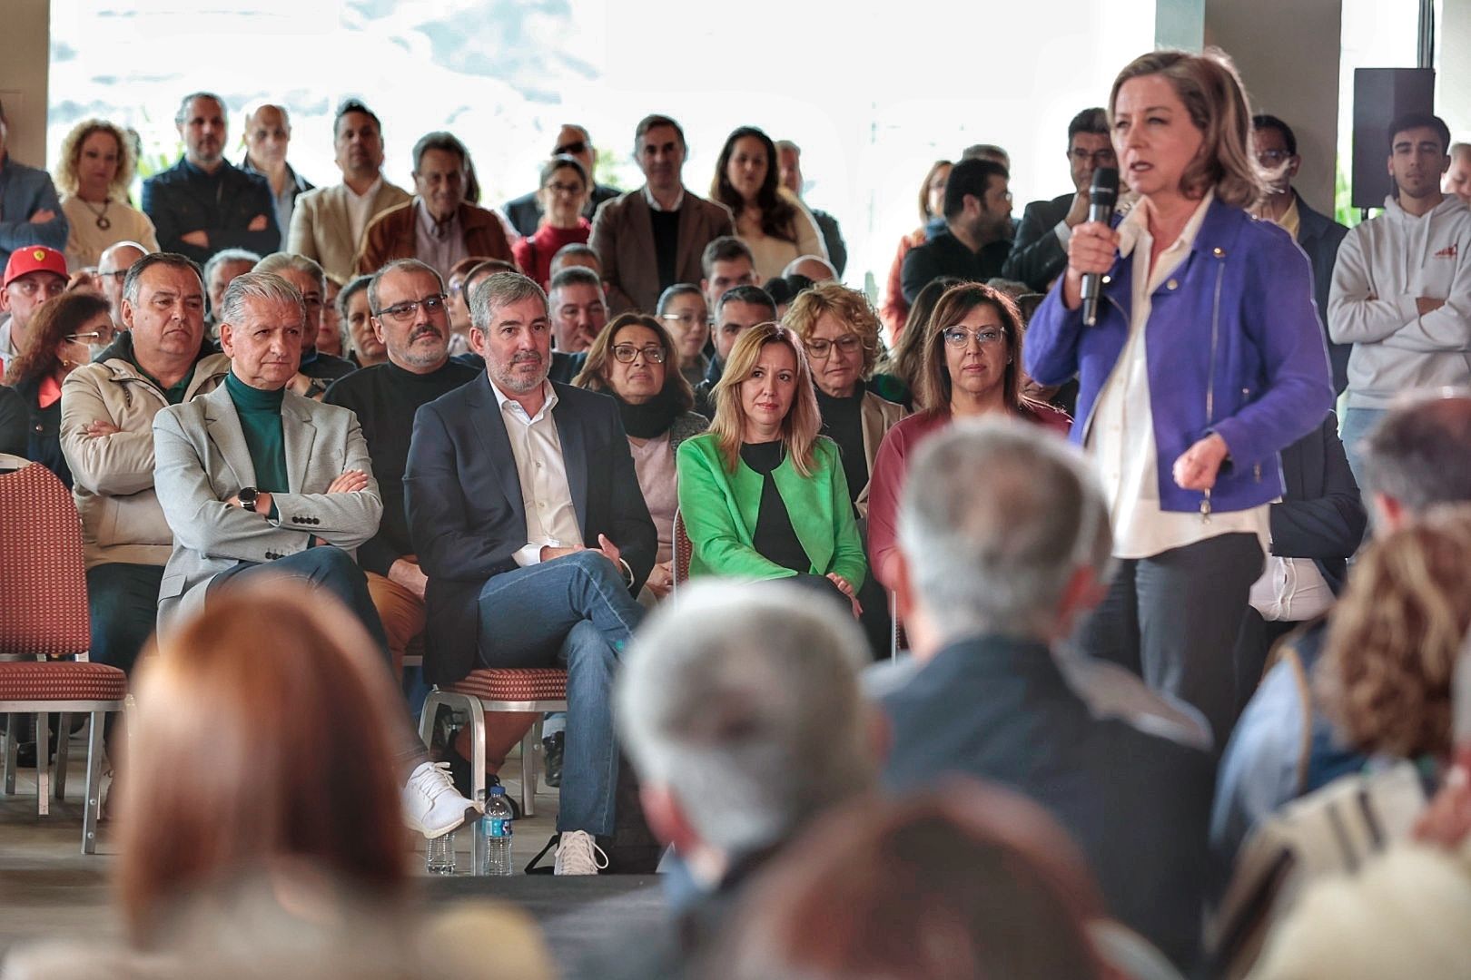
[[[725,359],[725,373],[713,391],[715,419],[710,422],[710,432],[715,433],[715,445],[721,450],[727,472],[734,473],[740,466],[741,432],[746,428],[740,386],[756,370],[761,350],[766,344],[786,344],[797,361],[797,391],[787,417],[781,420],[781,442],[797,473],[812,476],[812,447],[816,445],[822,430],[822,413],[812,391],[812,369],[808,367],[808,354],[802,350],[797,335],[775,322],[758,323],[741,334],[730,357]]]

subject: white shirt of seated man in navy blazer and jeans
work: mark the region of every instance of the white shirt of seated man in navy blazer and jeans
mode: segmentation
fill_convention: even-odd
[[[540,564],[541,548],[569,548],[583,544],[583,529],[572,505],[572,489],[566,482],[566,461],[562,458],[562,438],[556,430],[552,408],[558,397],[550,382],[543,381],[546,400],[535,416],[528,416],[496,382],[490,389],[500,404],[500,419],[506,423],[510,454],[516,460],[521,479],[521,504],[527,514],[527,544],[516,554],[516,564]]]

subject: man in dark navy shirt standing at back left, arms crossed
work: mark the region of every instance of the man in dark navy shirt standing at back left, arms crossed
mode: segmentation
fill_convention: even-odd
[[[185,96],[174,123],[184,156],[143,182],[143,212],[153,219],[159,247],[202,266],[222,248],[277,251],[281,229],[271,185],[225,159],[224,100],[210,93]]]

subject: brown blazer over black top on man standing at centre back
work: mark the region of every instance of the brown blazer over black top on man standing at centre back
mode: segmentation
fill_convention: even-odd
[[[684,191],[680,206],[680,247],[675,256],[674,282],[700,285],[705,272],[700,254],[721,235],[734,235],[736,225],[724,204]],[[659,301],[659,259],[653,250],[653,225],[643,188],[603,201],[593,217],[593,234],[587,244],[603,263],[610,313],[641,310],[653,313]],[[674,284],[669,284],[674,285]]]

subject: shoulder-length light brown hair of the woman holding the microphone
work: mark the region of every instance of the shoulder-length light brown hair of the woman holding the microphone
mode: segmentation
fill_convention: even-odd
[[[1171,50],[1140,54],[1114,79],[1108,97],[1109,129],[1118,90],[1128,79],[1146,75],[1161,75],[1169,82],[1203,137],[1199,154],[1180,176],[1186,197],[1199,200],[1215,188],[1224,204],[1256,204],[1267,194],[1268,179],[1252,154],[1252,110],[1231,57],[1218,47],[1202,54]]]

